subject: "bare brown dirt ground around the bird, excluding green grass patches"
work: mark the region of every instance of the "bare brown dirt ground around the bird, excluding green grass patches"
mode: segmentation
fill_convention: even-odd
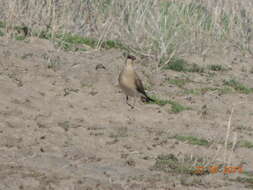
[[[226,71],[157,71],[138,59],[147,93],[191,109],[173,113],[171,105],[137,103],[130,109],[118,87],[124,64],[120,50],[65,52],[47,40],[0,38],[0,190],[171,190],[250,189],[245,174],[185,175],[152,169],[159,155],[198,156],[222,162],[228,120],[229,142],[253,141],[253,93],[185,94],[168,78],[189,77],[189,89],[222,87],[236,78],[253,87],[252,59],[188,57]],[[105,69],[97,69],[103,64]],[[175,135],[214,142],[192,145]],[[222,142],[222,143],[219,143]],[[237,143],[238,144],[238,143]],[[253,169],[253,148],[228,148],[231,166]],[[210,166],[210,165],[209,165]],[[251,185],[251,186],[250,186]]]

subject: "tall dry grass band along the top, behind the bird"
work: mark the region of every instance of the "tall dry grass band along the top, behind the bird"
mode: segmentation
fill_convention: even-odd
[[[205,58],[218,47],[251,53],[250,0],[0,0],[0,7],[8,31],[21,25],[51,38],[70,32],[96,38],[96,48],[105,40],[120,40],[129,50],[162,64],[171,55]]]

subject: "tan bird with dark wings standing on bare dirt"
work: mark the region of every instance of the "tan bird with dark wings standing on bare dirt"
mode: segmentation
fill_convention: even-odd
[[[127,55],[125,66],[119,74],[119,87],[126,95],[126,103],[133,109],[135,106],[136,97],[141,97],[142,101],[154,102],[154,100],[146,94],[142,81],[138,74],[134,70],[134,60],[136,57],[133,55]],[[134,104],[131,105],[128,102],[128,97],[134,97]]]

